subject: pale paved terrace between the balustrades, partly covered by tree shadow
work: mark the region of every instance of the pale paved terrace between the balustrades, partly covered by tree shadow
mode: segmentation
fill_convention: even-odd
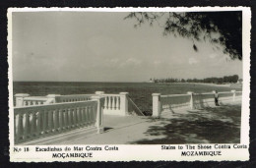
[[[160,119],[104,115],[103,134],[80,133],[57,144],[238,143],[240,118],[240,101],[204,110],[178,109]]]

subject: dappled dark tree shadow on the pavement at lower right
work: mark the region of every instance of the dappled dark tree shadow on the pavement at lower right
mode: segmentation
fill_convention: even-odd
[[[147,122],[160,122],[144,133],[149,139],[131,143],[239,143],[240,120],[241,105],[206,107],[201,111],[189,111],[187,114],[175,113],[168,119],[149,119]],[[151,136],[156,136],[156,139]]]

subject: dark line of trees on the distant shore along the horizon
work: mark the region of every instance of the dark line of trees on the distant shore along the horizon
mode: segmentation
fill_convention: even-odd
[[[150,83],[207,83],[207,84],[234,84],[242,83],[242,79],[239,79],[237,75],[224,76],[223,78],[211,77],[205,79],[150,79]]]

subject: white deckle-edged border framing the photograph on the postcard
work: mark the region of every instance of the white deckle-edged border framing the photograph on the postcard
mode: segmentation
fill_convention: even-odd
[[[242,117],[241,117],[241,144],[249,146],[249,95],[250,95],[250,29],[251,11],[249,7],[178,7],[178,8],[10,8],[8,9],[8,63],[9,63],[9,129],[10,129],[10,160],[15,162],[39,162],[39,161],[131,161],[131,160],[175,160],[175,161],[194,161],[194,160],[248,160],[249,152],[247,149],[222,149],[224,155],[216,157],[181,157],[179,151],[161,150],[160,144],[154,145],[116,145],[118,151],[94,151],[94,158],[60,158],[52,159],[51,152],[14,153],[14,122],[13,119],[13,72],[12,72],[12,13],[13,12],[204,12],[204,11],[242,11],[242,53],[243,53],[243,97],[242,97]],[[228,135],[223,135],[228,136]],[[52,146],[52,145],[51,145]],[[73,145],[69,145],[73,146]],[[97,145],[104,147],[105,145]],[[177,146],[177,145],[174,145]],[[24,147],[24,146],[21,146]],[[35,146],[29,146],[34,149]],[[63,146],[65,147],[65,146]]]

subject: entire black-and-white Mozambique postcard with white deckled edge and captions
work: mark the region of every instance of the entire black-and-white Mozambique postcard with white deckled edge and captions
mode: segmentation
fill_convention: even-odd
[[[249,13],[9,9],[14,160],[248,159]]]

